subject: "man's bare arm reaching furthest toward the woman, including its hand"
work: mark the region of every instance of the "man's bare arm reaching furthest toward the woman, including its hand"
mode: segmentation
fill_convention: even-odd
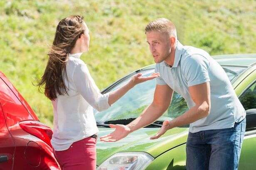
[[[127,136],[139,128],[147,126],[156,121],[167,110],[170,105],[173,90],[168,85],[157,85],[154,92],[153,102],[134,121],[125,125],[109,125],[115,131],[102,136],[101,141],[115,142]]]

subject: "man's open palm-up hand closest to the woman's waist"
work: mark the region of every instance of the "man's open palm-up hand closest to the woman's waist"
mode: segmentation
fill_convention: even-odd
[[[102,136],[100,137],[100,141],[104,141],[104,142],[116,142],[124,137],[126,137],[131,129],[128,127],[128,126],[125,126],[125,125],[112,125],[112,124],[109,124],[109,127],[110,128],[115,128],[114,132],[108,134],[108,135],[105,135],[105,136]]]

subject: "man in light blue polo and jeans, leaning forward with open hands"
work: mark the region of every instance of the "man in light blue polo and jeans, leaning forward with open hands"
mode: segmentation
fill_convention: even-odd
[[[110,125],[113,133],[101,140],[114,142],[156,121],[167,110],[173,91],[189,110],[163,123],[156,139],[167,130],[190,124],[186,143],[187,170],[237,170],[245,133],[246,112],[222,67],[202,49],[183,46],[174,24],[160,18],[145,28],[147,43],[160,73],[154,100],[127,126]]]

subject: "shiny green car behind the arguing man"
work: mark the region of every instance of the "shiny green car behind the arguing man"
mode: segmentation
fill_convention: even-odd
[[[256,54],[214,56],[228,75],[239,100],[246,109],[246,134],[239,170],[256,169]],[[149,76],[155,65],[144,67],[104,89],[113,91],[140,72]],[[99,136],[113,131],[108,124],[128,124],[153,101],[155,80],[138,84],[106,111],[95,111]],[[151,125],[114,143],[97,141],[97,170],[185,170],[186,139],[189,126],[173,128],[158,139],[149,137],[159,131],[166,119],[173,119],[188,109],[186,101],[174,92],[167,111]]]

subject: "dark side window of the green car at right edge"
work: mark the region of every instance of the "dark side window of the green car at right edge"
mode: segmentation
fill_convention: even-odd
[[[254,82],[240,97],[245,110],[256,108],[256,82]]]

